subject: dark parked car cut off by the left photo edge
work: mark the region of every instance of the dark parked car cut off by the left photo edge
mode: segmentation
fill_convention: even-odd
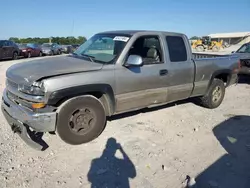
[[[19,56],[18,46],[10,40],[0,40],[0,59],[17,59]]]

